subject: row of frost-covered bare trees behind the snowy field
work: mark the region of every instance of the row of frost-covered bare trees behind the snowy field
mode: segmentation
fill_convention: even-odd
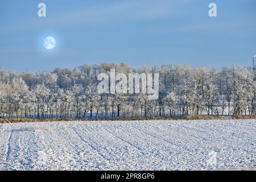
[[[160,73],[159,100],[146,94],[98,94],[97,75]],[[97,118],[187,115],[255,115],[255,73],[162,65],[84,64],[53,72],[15,73],[0,69],[0,118]]]

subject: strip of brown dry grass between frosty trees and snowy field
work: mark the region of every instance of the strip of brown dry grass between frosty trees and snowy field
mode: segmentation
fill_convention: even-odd
[[[142,121],[142,120],[211,120],[211,119],[256,119],[256,115],[239,115],[237,117],[231,116],[208,116],[208,115],[193,115],[188,117],[122,117],[122,118],[51,118],[51,119],[37,119],[37,118],[0,118],[0,123],[18,123],[18,122],[54,122],[54,121]]]

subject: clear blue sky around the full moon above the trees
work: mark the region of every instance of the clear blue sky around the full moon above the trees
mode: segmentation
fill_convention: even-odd
[[[38,3],[47,17],[38,17]],[[210,2],[217,17],[208,16]],[[43,40],[56,39],[47,50]],[[1,0],[0,67],[52,71],[85,63],[133,67],[251,65],[255,0]]]

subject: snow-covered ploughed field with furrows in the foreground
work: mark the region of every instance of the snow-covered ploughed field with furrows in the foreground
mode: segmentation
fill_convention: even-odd
[[[0,170],[255,169],[256,120],[0,125]]]

